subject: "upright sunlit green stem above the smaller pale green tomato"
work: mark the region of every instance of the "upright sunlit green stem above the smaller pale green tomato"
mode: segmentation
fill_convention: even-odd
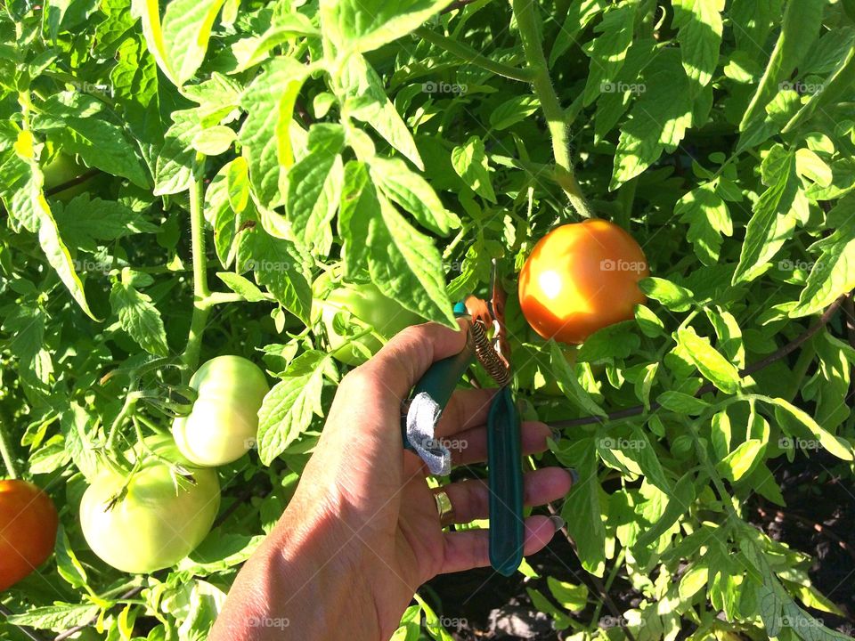
[[[190,333],[187,337],[187,346],[184,348],[181,360],[185,366],[182,373],[182,382],[190,380],[192,371],[199,365],[199,351],[202,343],[202,333],[208,324],[208,314],[211,305],[207,299],[210,296],[208,289],[208,270],[205,260],[205,219],[202,213],[204,199],[204,185],[202,183],[205,157],[197,154],[193,166],[193,175],[190,185],[190,238],[193,253],[193,315],[190,321]]]

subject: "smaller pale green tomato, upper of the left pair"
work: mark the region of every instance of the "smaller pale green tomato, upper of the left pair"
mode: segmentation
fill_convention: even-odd
[[[199,396],[172,434],[183,456],[214,467],[242,457],[256,444],[258,410],[270,391],[265,373],[240,356],[217,356],[190,379]]]

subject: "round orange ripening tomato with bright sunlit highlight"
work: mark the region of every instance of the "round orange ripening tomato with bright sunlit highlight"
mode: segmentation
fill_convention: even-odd
[[[525,320],[544,338],[582,343],[598,329],[633,317],[647,258],[615,223],[566,224],[538,241],[519,273]]]

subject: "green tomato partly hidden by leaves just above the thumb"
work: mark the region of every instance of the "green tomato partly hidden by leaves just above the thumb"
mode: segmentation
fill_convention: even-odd
[[[380,336],[389,339],[402,329],[425,321],[419,314],[384,296],[379,288],[371,283],[341,285],[333,288],[329,295],[321,299],[320,296],[329,283],[330,272],[322,274],[315,281],[313,316],[315,321],[322,321],[327,330],[333,358],[346,365],[361,365],[368,360],[369,353],[377,353],[383,346],[382,342],[370,333],[353,339],[366,327],[373,328]],[[349,331],[336,321],[337,315],[346,322]],[[348,323],[350,317],[359,322]],[[362,347],[355,345],[357,343]]]

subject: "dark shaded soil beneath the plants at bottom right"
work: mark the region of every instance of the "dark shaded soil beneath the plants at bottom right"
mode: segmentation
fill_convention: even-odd
[[[810,613],[829,628],[855,636],[855,488],[834,474],[837,464],[839,461],[821,451],[811,452],[810,458],[797,456],[776,474],[786,507],[754,499],[750,502],[751,515],[746,514],[746,518],[772,539],[813,558],[810,580],[846,616],[818,610]],[[583,583],[592,595],[598,593],[598,588],[562,536],[529,557],[529,563],[544,579],[521,579],[519,574],[506,578],[484,568],[439,576],[428,583],[428,592],[424,594],[429,597],[431,591],[434,593],[431,600],[437,613],[442,614],[446,628],[458,641],[562,638],[565,633],[552,629],[550,617],[538,613],[525,588],[538,588],[549,595],[546,576]],[[620,576],[608,596],[615,611],[608,606],[602,608],[600,627],[613,625],[620,613],[640,600],[640,595]],[[579,613],[577,619],[587,624],[593,614],[590,607]],[[568,633],[572,634],[572,630]]]

